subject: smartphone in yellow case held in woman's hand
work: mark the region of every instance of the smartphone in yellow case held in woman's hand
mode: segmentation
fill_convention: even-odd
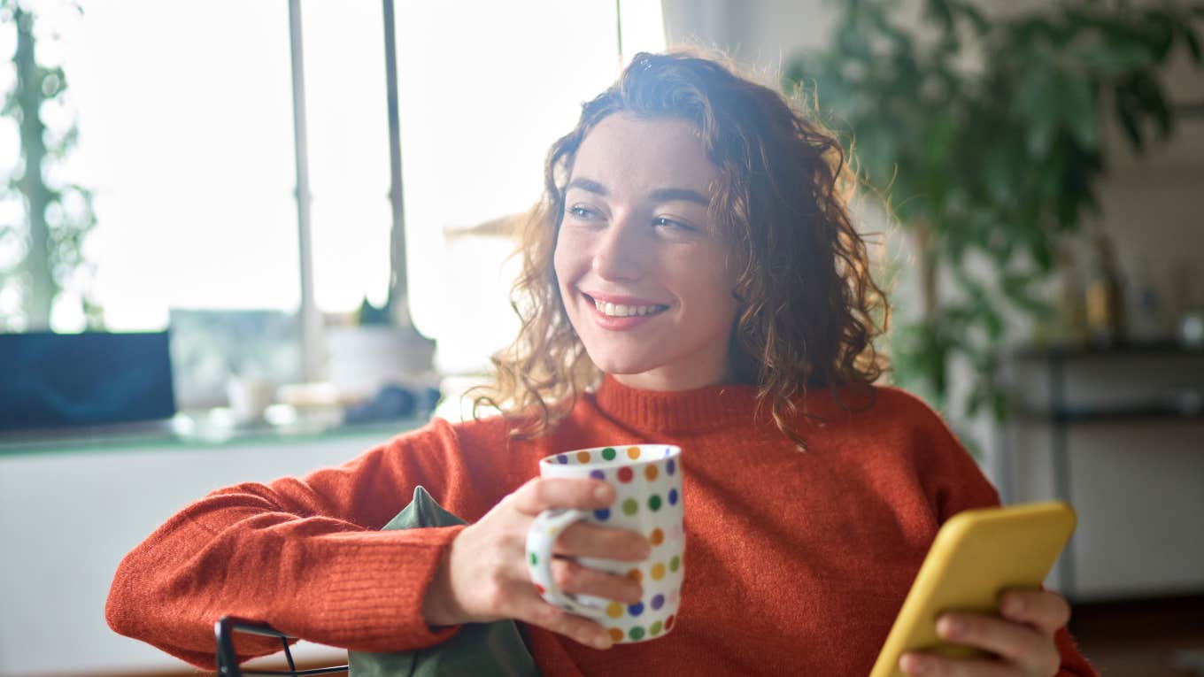
[[[1039,588],[1074,525],[1074,510],[1062,501],[968,510],[951,517],[937,532],[869,677],[905,677],[898,663],[909,650],[980,655],[938,637],[937,617],[946,611],[997,616],[999,595],[1008,588]]]

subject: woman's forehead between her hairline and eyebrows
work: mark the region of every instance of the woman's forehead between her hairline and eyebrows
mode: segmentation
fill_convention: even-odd
[[[692,123],[615,113],[585,135],[573,160],[572,177],[600,183],[614,193],[685,188],[709,195],[719,170],[707,157]]]

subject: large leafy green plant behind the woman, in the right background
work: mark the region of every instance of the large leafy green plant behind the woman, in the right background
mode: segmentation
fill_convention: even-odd
[[[923,0],[907,25],[898,1],[840,6],[831,47],[789,63],[784,84],[834,113],[909,235],[920,308],[891,332],[896,379],[949,411],[950,364],[966,359],[973,383],[951,413],[1002,419],[1011,318],[1050,311],[1039,292],[1058,240],[1098,212],[1100,125],[1115,117],[1138,151],[1173,133],[1158,75],[1179,46],[1200,65],[1204,6],[1088,0],[988,17],[984,2]]]

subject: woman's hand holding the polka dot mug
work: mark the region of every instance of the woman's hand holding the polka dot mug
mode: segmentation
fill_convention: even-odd
[[[609,507],[614,499],[614,488],[596,479],[531,479],[452,542],[423,600],[426,622],[456,625],[513,618],[583,644],[610,648],[613,642],[602,625],[543,601],[527,572],[526,536],[531,522],[545,510],[597,510]],[[560,535],[554,553],[643,561],[651,553],[651,546],[635,531],[579,522]],[[636,604],[643,594],[639,583],[630,578],[586,569],[566,559],[553,563],[551,572],[565,593],[625,604]]]

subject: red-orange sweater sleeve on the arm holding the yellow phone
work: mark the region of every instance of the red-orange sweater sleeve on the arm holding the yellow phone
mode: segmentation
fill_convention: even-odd
[[[914,401],[914,408],[916,466],[940,524],[964,510],[999,505],[998,491],[940,416],[920,400]],[[1054,640],[1062,655],[1058,677],[1099,677],[1066,628]]]

